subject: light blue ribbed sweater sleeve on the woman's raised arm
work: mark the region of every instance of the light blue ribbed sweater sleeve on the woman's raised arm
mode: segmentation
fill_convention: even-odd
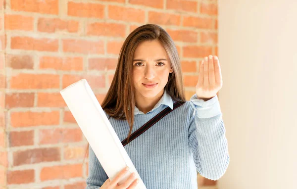
[[[229,153],[225,127],[217,95],[204,101],[194,94],[189,126],[189,145],[198,173],[218,180],[227,170]]]

